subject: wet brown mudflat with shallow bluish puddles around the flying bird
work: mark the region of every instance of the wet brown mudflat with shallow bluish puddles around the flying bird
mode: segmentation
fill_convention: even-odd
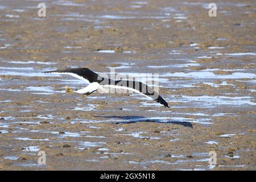
[[[1,170],[256,169],[255,1],[38,3],[0,3]],[[70,67],[158,73],[171,108],[42,73]]]

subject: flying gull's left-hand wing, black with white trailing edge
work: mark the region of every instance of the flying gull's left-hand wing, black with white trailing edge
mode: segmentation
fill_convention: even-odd
[[[97,73],[91,71],[88,68],[57,69],[55,71],[48,71],[44,73],[58,73],[61,75],[70,75],[88,83],[101,81],[101,77],[99,77]]]

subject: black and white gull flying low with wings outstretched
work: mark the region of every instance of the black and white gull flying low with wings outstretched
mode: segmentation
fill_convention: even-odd
[[[88,68],[71,68],[71,69],[59,69],[55,71],[47,71],[44,73],[57,73],[60,75],[70,75],[80,80],[87,82],[89,85],[83,89],[76,90],[76,93],[82,93],[89,95],[96,90],[104,90],[106,88],[125,89],[135,93],[143,94],[146,97],[150,97],[152,100],[159,102],[165,107],[170,107],[168,103],[155,92],[150,86],[143,84],[140,81],[131,80],[112,80],[109,78],[101,77],[97,73],[91,71]]]

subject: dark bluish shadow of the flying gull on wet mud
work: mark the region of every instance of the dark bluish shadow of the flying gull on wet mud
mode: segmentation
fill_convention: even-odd
[[[185,127],[193,127],[191,122],[187,121],[177,121],[177,120],[170,120],[170,121],[163,121],[162,119],[147,119],[142,116],[137,115],[129,115],[129,116],[117,116],[117,115],[110,115],[110,116],[95,116],[94,117],[100,117],[100,118],[118,118],[123,119],[122,122],[116,122],[116,124],[122,124],[122,123],[137,123],[137,122],[154,122],[154,123],[172,123],[175,125],[182,125]]]

